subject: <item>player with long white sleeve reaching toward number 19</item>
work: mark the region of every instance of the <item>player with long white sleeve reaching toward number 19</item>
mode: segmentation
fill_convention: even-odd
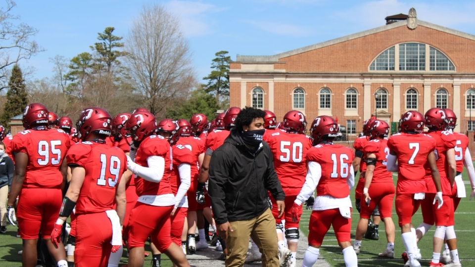
[[[158,251],[165,253],[179,267],[190,266],[181,247],[172,242],[170,215],[175,196],[170,187],[172,155],[169,139],[178,125],[168,120],[157,126],[148,112],[136,112],[126,122],[126,129],[134,143],[139,143],[135,162],[128,160],[128,169],[136,175],[139,199],[131,212],[126,228],[130,253],[129,267],[142,267],[144,244],[151,237]],[[161,135],[155,134],[158,132]]]

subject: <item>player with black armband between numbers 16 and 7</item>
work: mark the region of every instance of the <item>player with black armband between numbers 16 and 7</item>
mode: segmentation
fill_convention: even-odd
[[[368,220],[376,205],[380,208],[381,219],[386,230],[386,250],[379,257],[394,258],[395,228],[392,221],[392,200],[394,199],[394,182],[392,173],[386,169],[389,148],[387,137],[389,125],[385,121],[375,120],[371,123],[370,141],[363,148],[366,158],[365,186],[361,197],[360,221],[356,228],[355,243],[353,248],[356,254],[360,253],[363,234],[368,228]]]

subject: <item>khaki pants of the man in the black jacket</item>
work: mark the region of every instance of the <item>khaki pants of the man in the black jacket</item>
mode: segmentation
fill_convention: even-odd
[[[230,224],[233,231],[228,231],[226,240],[228,247],[226,267],[244,265],[249,247],[249,236],[262,253],[262,266],[279,267],[276,220],[270,209],[258,217],[247,221],[230,222]]]

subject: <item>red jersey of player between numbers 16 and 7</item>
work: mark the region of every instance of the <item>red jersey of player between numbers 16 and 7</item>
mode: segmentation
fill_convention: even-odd
[[[366,155],[368,155],[369,153],[376,155],[376,166],[375,171],[373,172],[373,179],[371,180],[371,183],[392,183],[392,173],[388,172],[386,169],[387,156],[389,156],[389,147],[387,147],[387,139],[375,139],[367,142],[363,150],[363,154],[366,157]]]

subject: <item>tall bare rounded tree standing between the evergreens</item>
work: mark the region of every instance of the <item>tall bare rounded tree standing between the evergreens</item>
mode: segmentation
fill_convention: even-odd
[[[142,8],[129,30],[125,50],[133,84],[153,114],[163,113],[169,100],[188,95],[195,84],[188,42],[177,17],[163,6]]]

